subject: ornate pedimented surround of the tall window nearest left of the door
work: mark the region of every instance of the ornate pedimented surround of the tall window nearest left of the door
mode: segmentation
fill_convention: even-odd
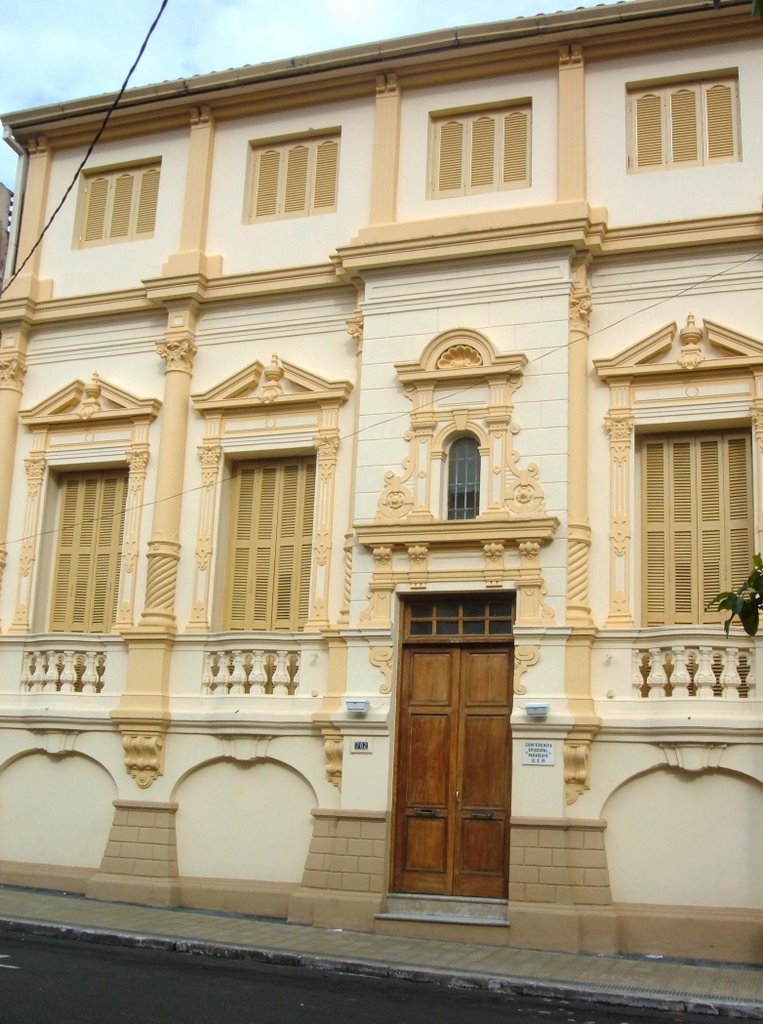
[[[204,417],[205,430],[198,447],[202,487],[188,633],[209,633],[212,628],[214,549],[226,460],[300,452],[314,452],[317,469],[310,611],[305,629],[329,626],[339,411],[351,390],[349,381],[325,380],[273,355],[267,366],[255,360],[209,390],[192,395],[195,409]]]

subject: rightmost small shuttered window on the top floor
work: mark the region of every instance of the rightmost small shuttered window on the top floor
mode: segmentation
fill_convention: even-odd
[[[656,171],[739,159],[733,78],[673,82],[629,90],[631,171]]]

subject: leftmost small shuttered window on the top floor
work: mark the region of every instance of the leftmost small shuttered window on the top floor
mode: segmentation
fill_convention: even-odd
[[[157,219],[159,173],[159,163],[153,163],[86,174],[80,245],[151,238]]]

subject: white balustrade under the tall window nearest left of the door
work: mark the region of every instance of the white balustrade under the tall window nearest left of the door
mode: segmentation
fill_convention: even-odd
[[[293,696],[299,687],[300,652],[273,645],[205,652],[202,694]]]

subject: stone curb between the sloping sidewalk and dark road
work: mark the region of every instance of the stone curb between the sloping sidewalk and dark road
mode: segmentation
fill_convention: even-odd
[[[131,949],[156,949],[220,959],[250,959],[273,967],[299,967],[309,971],[352,974],[370,978],[394,978],[437,985],[442,988],[475,989],[500,995],[544,996],[604,1006],[640,1008],[673,1013],[705,1014],[713,1017],[763,1020],[762,1002],[745,1002],[714,996],[677,995],[634,988],[598,988],[574,982],[540,981],[535,978],[509,977],[468,971],[446,971],[413,965],[396,967],[382,961],[350,959],[320,953],[300,953],[257,946],[229,945],[207,939],[174,939],[170,936],[117,932],[78,925],[56,925],[24,918],[0,919],[0,935],[39,935],[47,938],[92,942]]]

